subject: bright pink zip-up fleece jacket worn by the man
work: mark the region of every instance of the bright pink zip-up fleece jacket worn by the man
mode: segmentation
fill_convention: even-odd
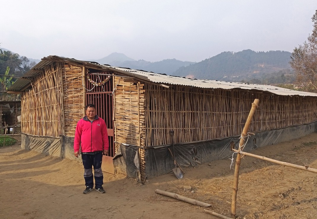
[[[106,122],[99,116],[96,116],[93,122],[87,119],[87,116],[77,122],[74,152],[94,152],[109,149],[109,140]]]

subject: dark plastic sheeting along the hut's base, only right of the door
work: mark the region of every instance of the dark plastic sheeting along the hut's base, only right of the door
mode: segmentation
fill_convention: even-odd
[[[245,138],[245,141],[247,142],[243,151],[248,152],[257,147],[290,141],[316,131],[317,122],[255,132],[255,135],[249,135]],[[238,149],[240,142],[239,137],[240,136],[233,136],[210,141],[176,143],[174,144],[175,158],[181,167],[198,166],[213,160],[231,158],[233,155],[231,147]],[[126,174],[128,177],[138,178],[139,167],[135,163],[138,147],[133,145],[121,145],[120,147],[122,153],[118,155],[120,158],[116,159],[117,155],[114,158],[116,168],[120,169],[123,167],[122,173]],[[171,145],[145,148],[146,178],[154,178],[172,172],[172,168],[175,166],[168,148],[173,151]],[[234,157],[236,157],[236,154]]]

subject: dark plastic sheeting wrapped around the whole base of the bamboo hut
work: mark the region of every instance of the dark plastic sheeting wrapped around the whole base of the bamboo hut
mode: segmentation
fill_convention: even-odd
[[[300,126],[290,126],[281,129],[255,132],[246,138],[247,143],[243,151],[248,152],[257,147],[277,144],[304,137],[317,131],[317,121]],[[74,156],[74,137],[36,136],[22,133],[22,149],[35,150],[40,153],[53,155],[72,160],[81,159]],[[210,141],[197,141],[189,143],[175,143],[174,153],[178,164],[182,167],[198,166],[213,160],[231,158],[231,147],[238,149],[240,136],[233,136]],[[175,167],[171,153],[171,145],[145,148],[145,177],[153,178],[172,172]],[[113,158],[116,172],[140,181],[139,147],[121,144]]]

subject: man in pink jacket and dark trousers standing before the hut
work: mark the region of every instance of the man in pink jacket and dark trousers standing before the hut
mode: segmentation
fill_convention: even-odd
[[[81,146],[81,152],[79,147]],[[81,154],[82,164],[84,165],[84,179],[86,189],[84,194],[89,193],[94,187],[100,193],[105,193],[103,189],[103,173],[101,170],[102,155],[108,154],[109,140],[106,122],[96,115],[94,104],[86,106],[86,116],[77,122],[74,155]],[[94,173],[93,175],[93,166]]]

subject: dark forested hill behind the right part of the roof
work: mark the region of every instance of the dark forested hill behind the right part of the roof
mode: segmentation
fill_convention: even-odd
[[[223,52],[204,61],[181,67],[173,75],[210,80],[239,81],[284,69],[290,69],[292,53],[285,51],[255,52],[250,49],[241,52]]]

